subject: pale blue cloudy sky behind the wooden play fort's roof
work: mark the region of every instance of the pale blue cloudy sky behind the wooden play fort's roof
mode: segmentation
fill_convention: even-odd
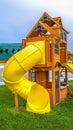
[[[45,11],[62,17],[73,52],[73,0],[0,0],[0,43],[21,43]]]

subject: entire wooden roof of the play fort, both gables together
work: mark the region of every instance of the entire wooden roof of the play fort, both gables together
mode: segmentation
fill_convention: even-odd
[[[51,33],[53,35],[57,35],[55,33],[55,30],[52,28],[53,26],[58,27],[69,34],[69,32],[63,28],[61,17],[52,18],[48,13],[44,12],[36,24],[33,26],[33,28],[30,30],[30,32],[27,34],[26,38],[39,36],[41,33]]]

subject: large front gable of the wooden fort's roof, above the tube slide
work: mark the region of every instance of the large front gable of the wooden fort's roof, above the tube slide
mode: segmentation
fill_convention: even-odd
[[[33,28],[30,30],[30,32],[27,34],[27,38],[30,36],[36,36],[40,33],[40,31],[46,33],[54,33],[51,26],[58,26],[59,23],[53,19],[49,14],[46,12],[43,13],[43,15],[40,17],[40,19],[37,21],[37,23],[33,26]]]

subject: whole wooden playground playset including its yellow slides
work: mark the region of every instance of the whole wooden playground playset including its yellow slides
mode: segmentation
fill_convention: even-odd
[[[3,80],[12,92],[27,99],[28,111],[49,112],[50,102],[54,106],[67,96],[67,69],[73,73],[73,64],[67,63],[68,34],[61,17],[52,18],[45,12],[22,39],[23,49],[7,61]],[[63,70],[65,77],[60,81]],[[30,81],[24,77],[27,71]]]

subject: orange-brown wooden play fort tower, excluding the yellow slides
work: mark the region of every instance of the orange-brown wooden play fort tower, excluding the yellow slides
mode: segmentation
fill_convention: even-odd
[[[34,27],[22,40],[22,47],[36,41],[45,46],[43,62],[29,71],[29,79],[44,86],[50,94],[51,104],[60,103],[67,95],[67,68],[62,67],[67,63],[67,35],[69,32],[63,27],[61,17],[52,18],[46,12],[40,17]],[[62,77],[62,72],[64,77]],[[61,78],[62,81],[61,81]],[[45,97],[44,97],[45,98]]]

